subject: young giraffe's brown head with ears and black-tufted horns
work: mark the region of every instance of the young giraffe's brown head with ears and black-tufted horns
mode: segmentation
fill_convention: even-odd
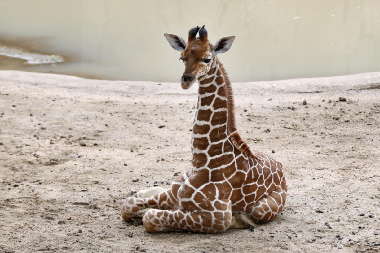
[[[199,37],[196,38],[198,32]],[[184,90],[190,88],[198,77],[206,74],[210,70],[215,56],[227,52],[235,40],[235,36],[227,36],[220,38],[215,44],[211,44],[204,26],[190,29],[187,43],[175,34],[165,33],[164,36],[170,46],[181,52],[179,59],[185,63],[185,71],[181,78],[181,87]]]

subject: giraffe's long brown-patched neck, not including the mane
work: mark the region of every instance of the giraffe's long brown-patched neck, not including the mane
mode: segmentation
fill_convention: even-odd
[[[222,155],[228,139],[228,103],[225,79],[217,59],[198,78],[198,104],[192,131],[193,169],[207,168],[211,157]]]

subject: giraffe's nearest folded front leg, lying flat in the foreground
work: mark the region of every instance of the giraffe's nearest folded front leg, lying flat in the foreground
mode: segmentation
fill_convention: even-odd
[[[188,230],[201,233],[224,232],[230,226],[232,219],[230,209],[214,212],[190,211],[185,209],[157,210],[150,209],[142,223],[147,232],[160,232],[171,230]]]

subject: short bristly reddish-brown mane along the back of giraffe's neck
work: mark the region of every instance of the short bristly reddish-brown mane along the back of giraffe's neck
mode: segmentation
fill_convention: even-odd
[[[222,71],[222,76],[224,78],[224,86],[227,93],[227,129],[230,134],[232,144],[245,155],[254,157],[256,159],[260,159],[252,152],[248,144],[245,141],[243,141],[239,133],[237,133],[235,122],[235,103],[230,77],[228,77],[227,71],[218,59],[218,57],[216,57],[216,60],[220,70]]]

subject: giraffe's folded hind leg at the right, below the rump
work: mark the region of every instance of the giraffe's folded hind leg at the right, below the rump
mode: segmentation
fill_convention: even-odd
[[[267,196],[248,207],[246,212],[249,213],[251,220],[255,223],[270,221],[281,212],[285,199],[286,192],[277,187]]]

